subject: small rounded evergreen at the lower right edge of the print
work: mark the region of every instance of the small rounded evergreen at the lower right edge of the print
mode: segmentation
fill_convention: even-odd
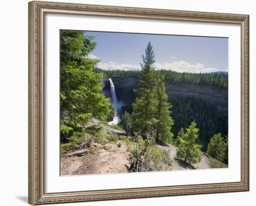
[[[221,133],[215,134],[208,143],[207,153],[220,161],[224,161],[226,155],[226,142]]]

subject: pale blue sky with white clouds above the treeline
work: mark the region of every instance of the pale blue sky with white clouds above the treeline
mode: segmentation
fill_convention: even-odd
[[[160,34],[86,32],[97,42],[88,57],[102,69],[141,69],[141,55],[149,41],[155,67],[177,72],[228,71],[228,38]]]

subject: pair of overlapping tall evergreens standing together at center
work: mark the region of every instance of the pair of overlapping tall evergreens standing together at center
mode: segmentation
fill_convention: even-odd
[[[131,114],[132,130],[141,134],[144,139],[149,135],[156,141],[171,142],[171,128],[174,124],[170,117],[171,105],[167,101],[164,77],[155,73],[155,54],[150,42],[145,53],[145,56],[142,55],[140,82],[135,90],[138,97]]]

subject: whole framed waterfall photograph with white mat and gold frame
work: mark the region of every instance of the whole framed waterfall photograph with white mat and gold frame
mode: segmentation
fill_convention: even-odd
[[[29,204],[249,191],[249,15],[28,7]]]

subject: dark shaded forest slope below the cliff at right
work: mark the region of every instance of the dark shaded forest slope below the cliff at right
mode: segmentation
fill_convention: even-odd
[[[204,100],[192,97],[172,99],[173,133],[176,137],[181,127],[186,128],[196,121],[199,128],[197,143],[206,152],[210,138],[216,133],[228,134],[228,117]]]

